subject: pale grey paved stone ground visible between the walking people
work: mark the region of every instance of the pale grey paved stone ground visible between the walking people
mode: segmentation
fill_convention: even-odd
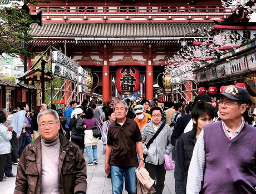
[[[87,166],[87,194],[111,194],[111,179],[106,177],[104,171],[105,155],[102,154],[102,142],[98,143],[99,165]],[[87,156],[85,153],[87,161]],[[17,166],[13,165],[13,173],[17,171]],[[11,194],[14,191],[15,178],[8,178],[5,182],[0,182],[0,194]],[[127,193],[124,191],[123,193]],[[165,176],[165,188],[163,194],[174,194],[174,171],[167,171]]]

